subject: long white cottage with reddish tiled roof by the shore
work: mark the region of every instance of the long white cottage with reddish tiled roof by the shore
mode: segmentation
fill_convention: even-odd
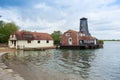
[[[8,46],[10,48],[49,48],[53,47],[53,39],[47,33],[17,31],[10,35]]]

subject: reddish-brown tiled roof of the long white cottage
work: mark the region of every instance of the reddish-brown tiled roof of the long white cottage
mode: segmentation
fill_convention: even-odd
[[[48,33],[17,31],[14,34],[17,40],[53,40]]]

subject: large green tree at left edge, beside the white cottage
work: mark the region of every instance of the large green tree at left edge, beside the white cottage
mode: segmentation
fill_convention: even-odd
[[[13,22],[5,23],[0,21],[0,43],[7,43],[9,36],[18,29],[19,27]]]

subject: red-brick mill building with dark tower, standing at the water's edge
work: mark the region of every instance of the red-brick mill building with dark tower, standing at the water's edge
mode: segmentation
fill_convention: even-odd
[[[78,31],[68,30],[64,32],[61,39],[61,48],[97,47],[98,39],[91,36],[88,30],[87,18],[80,19]]]

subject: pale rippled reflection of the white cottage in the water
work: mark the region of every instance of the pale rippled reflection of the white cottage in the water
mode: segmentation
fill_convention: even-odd
[[[42,51],[16,51],[15,53],[9,53],[4,55],[3,61],[9,60],[10,62],[15,62],[16,64],[43,64],[50,59],[51,54]]]

